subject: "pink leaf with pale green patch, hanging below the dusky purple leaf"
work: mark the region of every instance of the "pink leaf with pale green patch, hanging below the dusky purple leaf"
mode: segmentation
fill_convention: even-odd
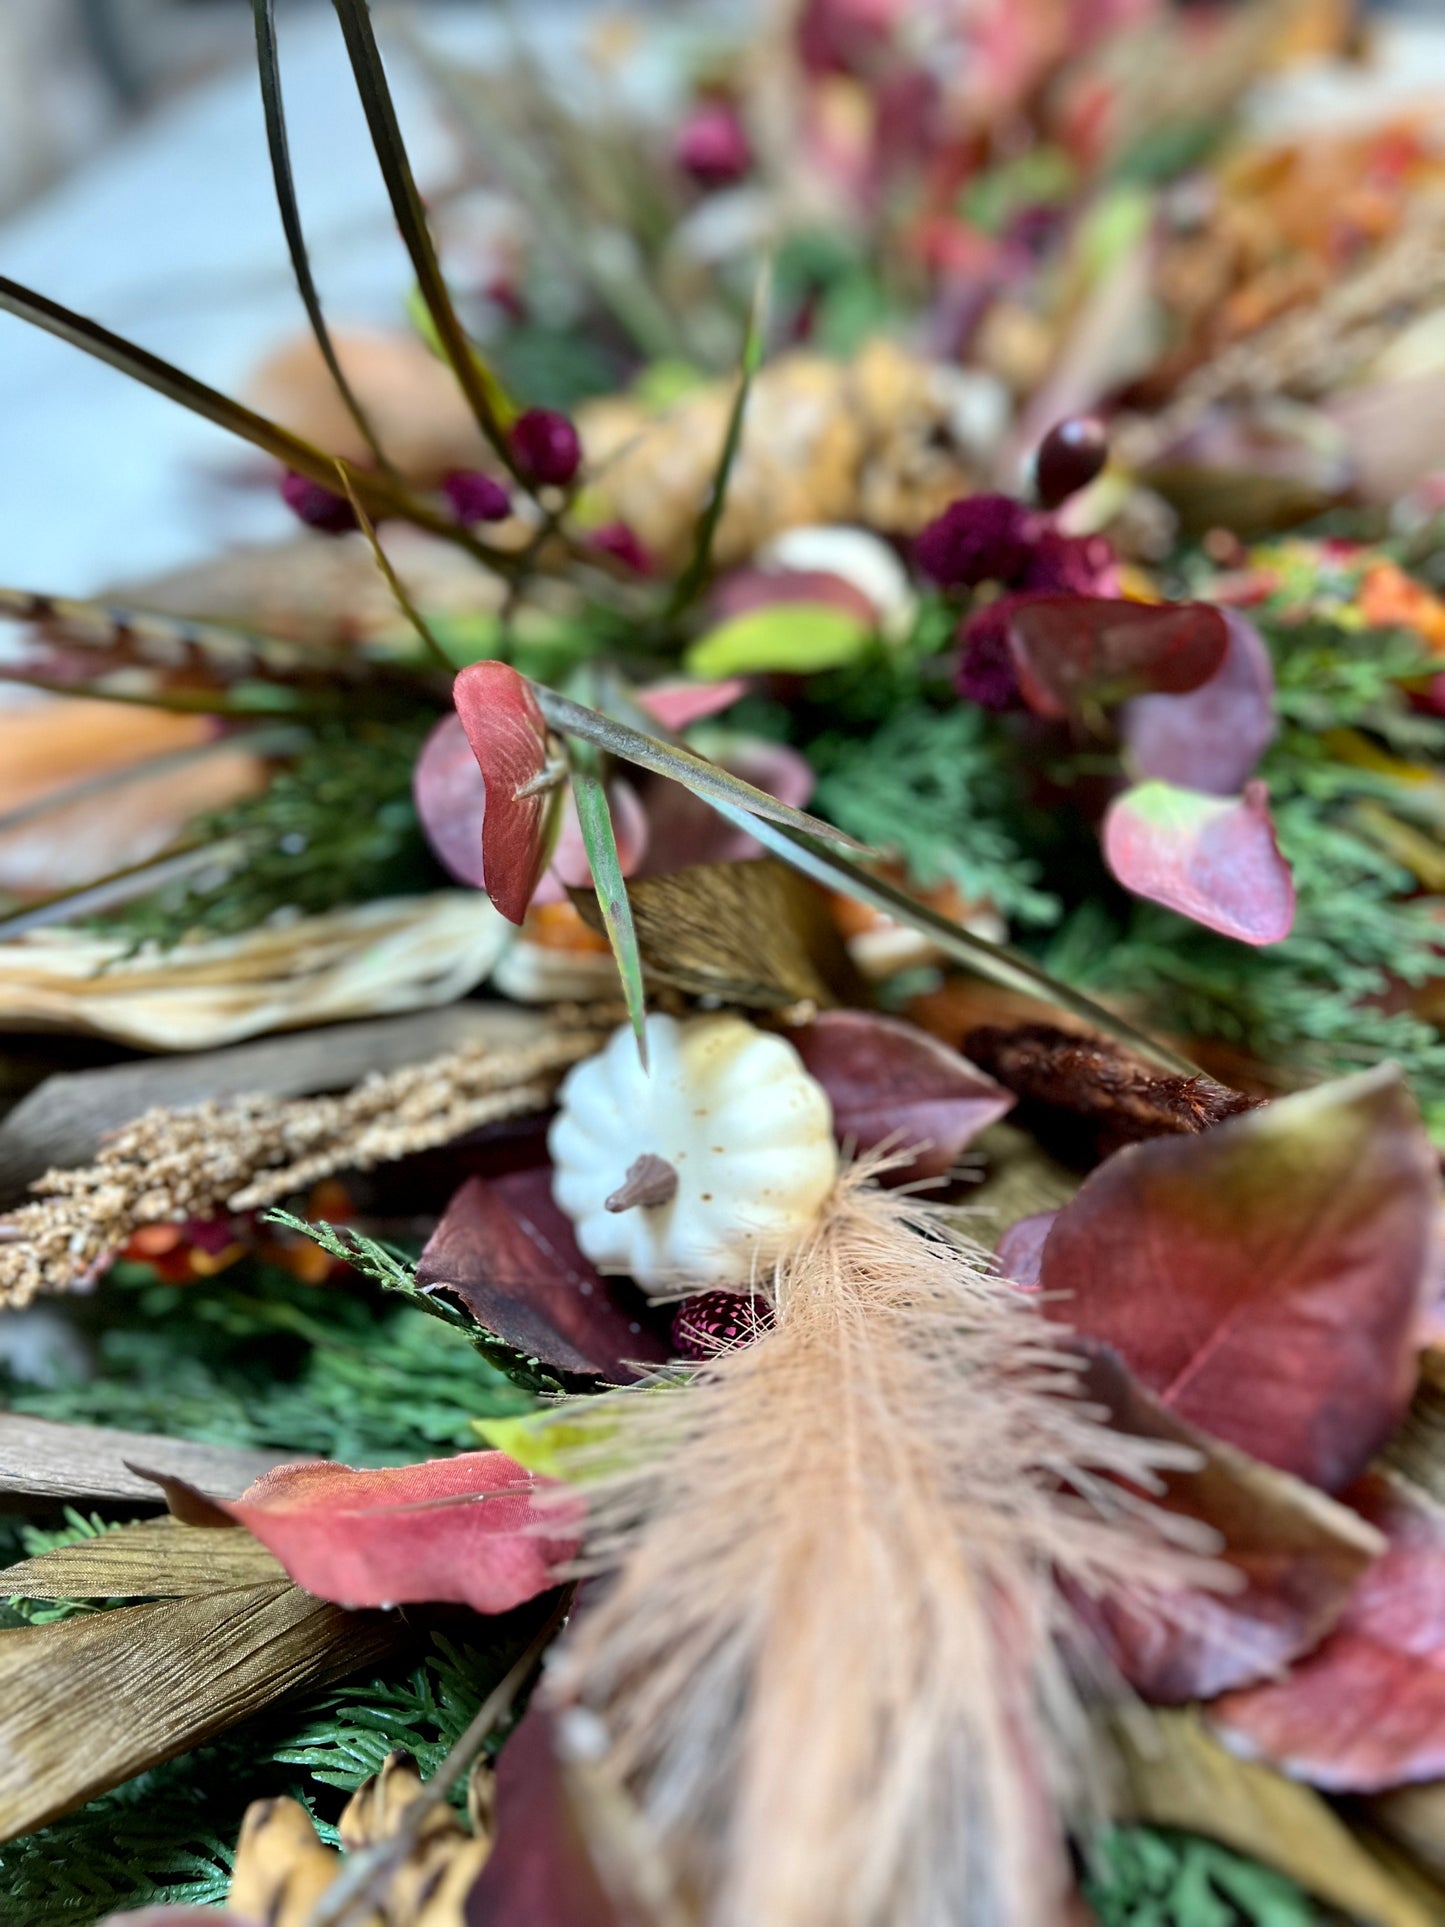
[[[1110,804],[1104,858],[1125,890],[1208,931],[1245,944],[1289,937],[1295,879],[1262,782],[1229,798],[1139,782]]]

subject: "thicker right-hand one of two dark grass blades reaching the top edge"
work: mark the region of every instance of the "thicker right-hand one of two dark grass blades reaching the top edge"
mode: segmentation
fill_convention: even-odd
[[[518,480],[524,480],[518,474],[501,418],[501,409],[505,407],[501,385],[472,347],[441,274],[441,262],[437,260],[432,231],[426,225],[422,195],[416,187],[412,164],[407,158],[401,127],[397,125],[397,108],[391,100],[385,67],[381,66],[381,50],[378,48],[376,33],[372,31],[372,10],[366,0],[333,0],[333,4],[337,19],[341,21],[341,37],[347,42],[351,71],[356,77],[356,92],[360,94],[362,112],[366,114],[366,125],[372,133],[372,146],[376,148],[376,158],[381,166],[381,179],[385,181],[387,195],[391,197],[391,212],[397,220],[397,227],[401,229],[407,252],[410,254],[416,285],[422,291],[426,312],[432,316],[437,341],[441,343],[451,372],[457,376],[457,385],[476,416],[476,426],[487,437],[507,468]]]

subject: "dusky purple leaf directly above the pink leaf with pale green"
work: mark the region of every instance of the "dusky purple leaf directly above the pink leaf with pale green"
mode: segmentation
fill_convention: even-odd
[[[1252,622],[1225,609],[1223,663],[1185,696],[1137,696],[1119,726],[1141,777],[1187,790],[1235,796],[1252,777],[1275,730],[1274,665]]]

